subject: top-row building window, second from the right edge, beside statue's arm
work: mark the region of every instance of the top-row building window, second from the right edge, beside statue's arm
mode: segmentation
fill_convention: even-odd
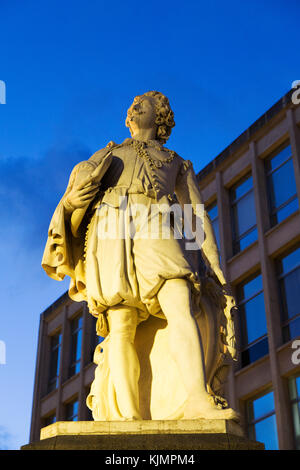
[[[257,240],[252,176],[247,175],[230,190],[233,254]]]

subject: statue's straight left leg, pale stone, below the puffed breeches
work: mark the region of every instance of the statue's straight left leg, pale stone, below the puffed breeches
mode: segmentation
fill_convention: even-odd
[[[122,416],[142,419],[139,412],[138,380],[140,364],[134,346],[137,310],[114,307],[108,310],[110,330],[108,360],[117,402]]]

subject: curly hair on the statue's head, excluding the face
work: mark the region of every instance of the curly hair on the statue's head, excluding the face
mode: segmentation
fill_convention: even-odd
[[[156,138],[161,144],[165,144],[171,135],[172,127],[175,126],[174,113],[171,109],[168,98],[159,91],[147,91],[143,95],[138,95],[134,98],[133,102],[138,101],[143,96],[154,98],[157,124]],[[129,126],[128,118],[126,119],[126,126]]]

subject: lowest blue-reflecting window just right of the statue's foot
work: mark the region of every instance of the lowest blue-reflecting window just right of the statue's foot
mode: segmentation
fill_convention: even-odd
[[[263,442],[266,450],[277,450],[277,426],[273,392],[247,403],[249,438]]]

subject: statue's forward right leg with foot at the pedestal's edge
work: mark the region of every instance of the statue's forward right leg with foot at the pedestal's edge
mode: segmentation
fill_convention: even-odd
[[[158,292],[168,321],[169,347],[187,390],[185,418],[237,419],[231,409],[220,410],[207,393],[201,335],[193,317],[191,292],[185,279],[169,279]]]

